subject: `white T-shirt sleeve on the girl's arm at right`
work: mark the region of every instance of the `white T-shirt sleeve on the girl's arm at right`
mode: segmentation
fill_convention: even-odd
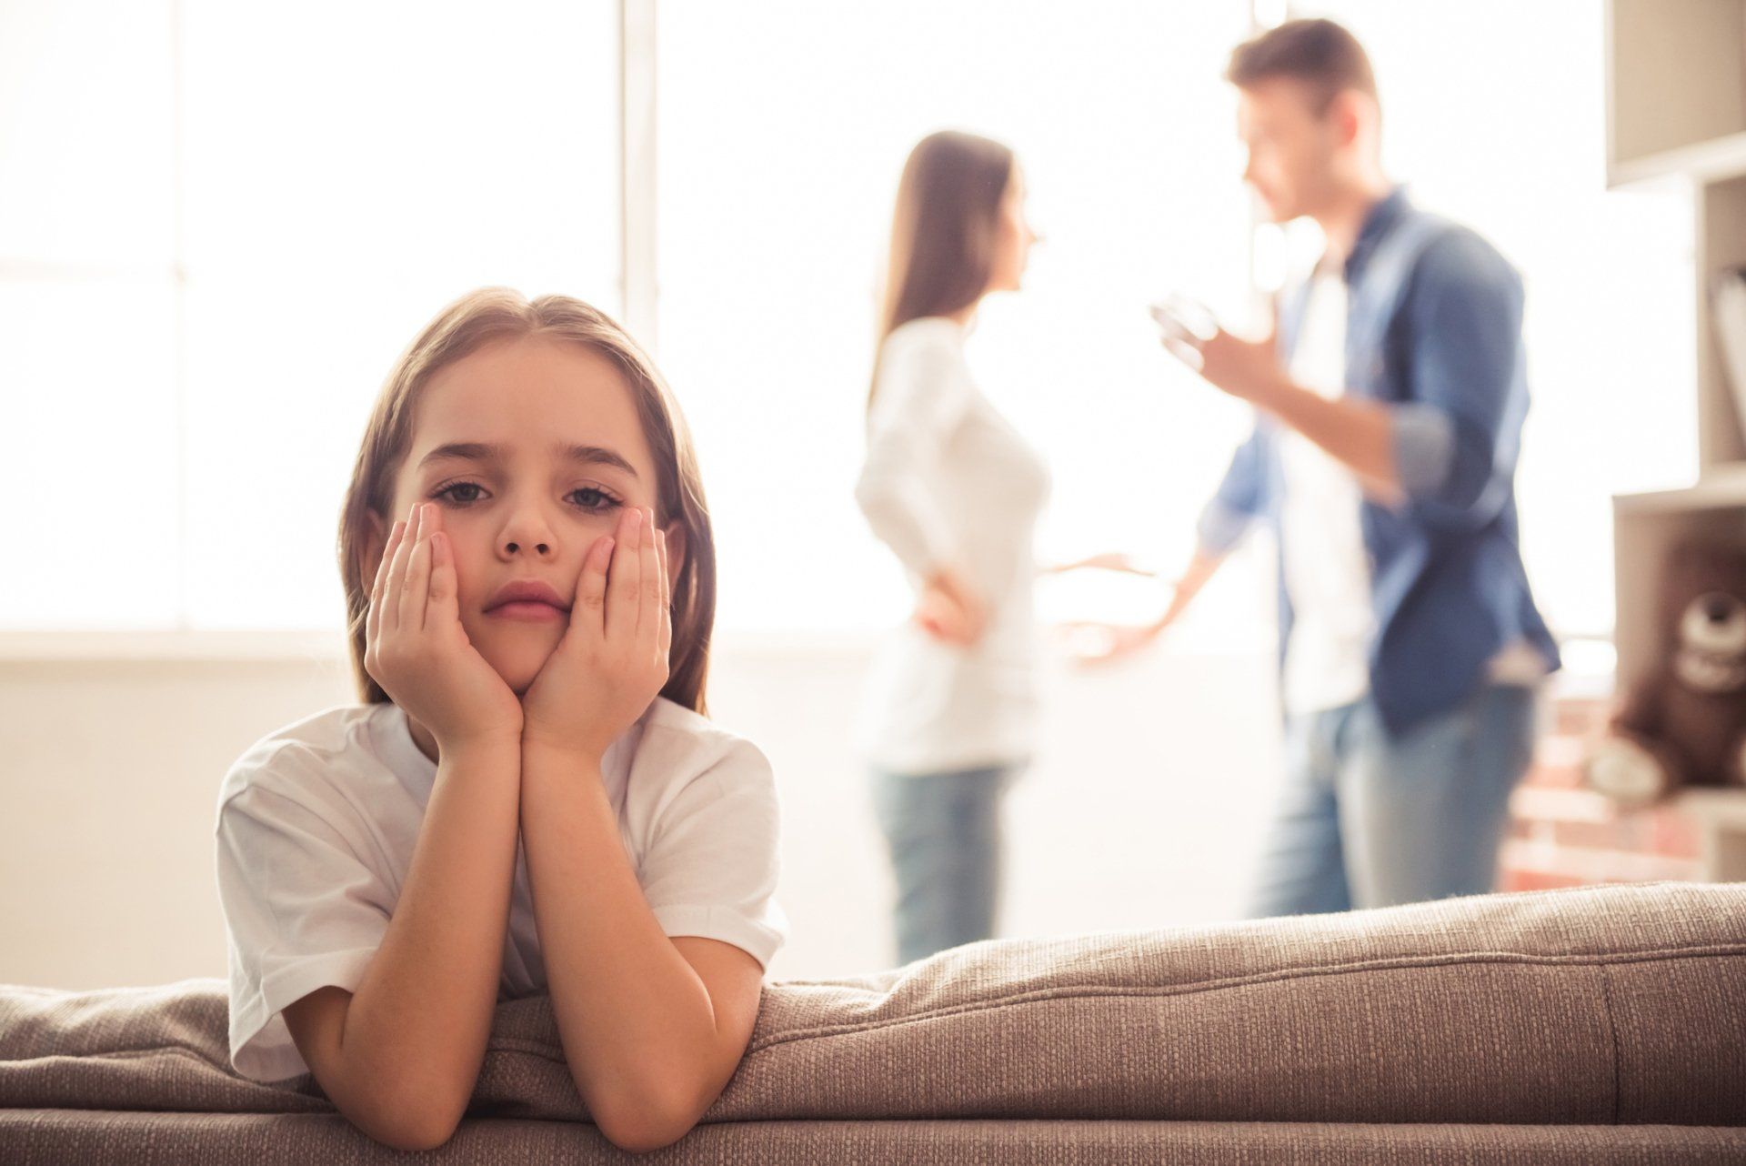
[[[735,742],[655,820],[639,881],[662,930],[732,943],[768,967],[787,937],[775,902],[779,834],[770,763]]]

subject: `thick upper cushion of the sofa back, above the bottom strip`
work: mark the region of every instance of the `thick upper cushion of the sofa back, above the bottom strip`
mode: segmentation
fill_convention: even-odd
[[[1070,939],[765,990],[705,1121],[1032,1117],[1746,1126],[1746,883],[1655,883]],[[225,1056],[220,981],[0,988],[9,1107],[297,1114]],[[477,1115],[585,1117],[545,997]]]

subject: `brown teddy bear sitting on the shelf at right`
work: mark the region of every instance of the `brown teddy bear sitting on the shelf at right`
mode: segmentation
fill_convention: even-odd
[[[1746,785],[1746,552],[1681,543],[1660,580],[1662,660],[1624,695],[1589,784],[1626,805]]]

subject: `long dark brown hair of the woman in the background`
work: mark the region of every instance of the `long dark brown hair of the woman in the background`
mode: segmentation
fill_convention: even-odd
[[[880,346],[899,325],[962,311],[988,290],[1000,199],[1011,180],[1013,150],[990,138],[941,131],[910,150],[890,223]]]

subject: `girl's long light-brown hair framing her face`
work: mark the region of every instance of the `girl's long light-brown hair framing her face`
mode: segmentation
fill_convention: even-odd
[[[716,623],[716,539],[684,415],[648,354],[606,312],[567,295],[529,300],[510,288],[480,288],[438,312],[395,361],[365,426],[339,520],[339,571],[346,585],[346,632],[358,696],[365,703],[388,700],[363,667],[365,618],[375,580],[375,564],[367,559],[372,531],[391,525],[395,475],[412,447],[424,386],[438,370],[487,344],[529,335],[571,340],[606,356],[636,400],[643,436],[655,456],[656,520],[684,529],[684,566],[672,599],[672,651],[660,695],[705,712],[709,637]]]

